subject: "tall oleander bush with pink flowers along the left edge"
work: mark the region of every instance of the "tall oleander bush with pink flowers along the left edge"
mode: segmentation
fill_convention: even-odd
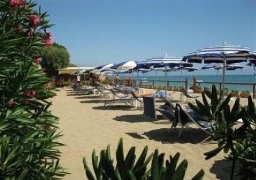
[[[48,15],[32,1],[0,1],[0,179],[55,179],[62,146],[51,114],[40,49],[51,46]]]

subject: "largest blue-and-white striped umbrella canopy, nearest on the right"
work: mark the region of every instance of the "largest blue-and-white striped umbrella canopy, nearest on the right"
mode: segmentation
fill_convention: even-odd
[[[184,56],[182,61],[195,62],[195,63],[223,63],[226,60],[226,64],[238,63],[247,61],[248,58],[254,58],[256,51],[250,48],[237,45],[229,45],[224,42],[222,45],[209,46],[203,49],[199,49],[195,52],[191,52]]]

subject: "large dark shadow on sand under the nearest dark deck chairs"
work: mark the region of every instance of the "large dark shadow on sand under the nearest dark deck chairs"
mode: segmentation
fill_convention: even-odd
[[[137,135],[142,136],[142,138],[144,138],[143,136],[146,136],[147,138],[149,138],[149,140],[155,140],[158,142],[160,141],[163,144],[167,144],[167,143],[198,144],[199,142],[202,142],[202,140],[208,137],[206,134],[203,133],[202,130],[198,128],[189,128],[188,132],[184,130],[184,132],[182,132],[182,135],[180,137],[178,137],[178,135],[181,128],[173,129],[171,132],[169,132],[169,130],[170,128],[161,128],[161,129],[155,129],[148,132],[144,132],[142,135],[139,135],[139,134]],[[130,135],[131,133],[127,133],[127,134]],[[136,136],[133,136],[133,137],[136,138]],[[138,139],[142,139],[142,138],[138,138]]]

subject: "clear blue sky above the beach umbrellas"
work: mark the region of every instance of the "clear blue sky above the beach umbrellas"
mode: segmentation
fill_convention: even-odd
[[[255,0],[36,1],[77,65],[183,56],[223,41],[256,49]]]

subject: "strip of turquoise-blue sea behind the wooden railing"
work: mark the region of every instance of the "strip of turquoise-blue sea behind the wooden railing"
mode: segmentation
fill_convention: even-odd
[[[167,81],[179,81],[179,82],[170,82],[169,86],[182,87],[182,80],[185,81],[188,78],[188,88],[192,87],[193,76],[195,75],[169,75],[167,76]],[[199,83],[199,86],[204,88],[211,88],[212,84],[204,83],[204,82],[222,82],[222,75],[196,75],[197,81],[202,81]],[[134,80],[142,81],[143,84],[151,85],[152,82],[150,80],[154,80],[155,86],[165,86],[164,75],[144,75],[144,76],[134,76]],[[229,83],[255,83],[256,77],[254,75],[225,75],[225,82]],[[217,88],[219,88],[219,84],[215,84]],[[183,83],[183,86],[184,83]],[[253,91],[253,85],[247,84],[225,84],[225,88],[228,90],[238,90],[238,91]]]

